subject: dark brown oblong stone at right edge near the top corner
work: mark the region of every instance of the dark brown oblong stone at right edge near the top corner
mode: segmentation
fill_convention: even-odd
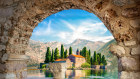
[[[128,18],[138,17],[140,16],[140,9],[137,7],[126,8],[122,11],[122,15]]]

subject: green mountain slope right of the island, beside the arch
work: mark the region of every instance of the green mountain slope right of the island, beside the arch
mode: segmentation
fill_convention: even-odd
[[[113,69],[118,68],[118,59],[109,51],[111,44],[117,44],[117,42],[115,40],[111,40],[104,44],[101,48],[99,48],[97,52],[100,52],[102,55],[105,55],[109,68]]]

